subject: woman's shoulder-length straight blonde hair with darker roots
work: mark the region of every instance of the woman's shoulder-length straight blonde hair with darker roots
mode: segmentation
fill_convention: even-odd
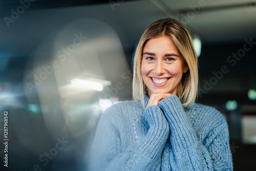
[[[143,33],[134,54],[133,67],[133,98],[141,101],[144,106],[144,92],[147,87],[141,75],[141,59],[144,45],[151,38],[169,36],[178,50],[179,55],[188,66],[177,88],[177,96],[182,98],[183,106],[190,106],[197,97],[198,91],[198,59],[191,36],[187,29],[176,19],[159,19],[152,23]]]

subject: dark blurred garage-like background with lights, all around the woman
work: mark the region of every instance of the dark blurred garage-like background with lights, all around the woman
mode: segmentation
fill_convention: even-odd
[[[132,99],[143,31],[172,17],[199,59],[198,102],[226,118],[234,170],[256,170],[256,1],[0,1],[0,170],[87,170],[97,121]],[[8,168],[4,112],[8,111]]]

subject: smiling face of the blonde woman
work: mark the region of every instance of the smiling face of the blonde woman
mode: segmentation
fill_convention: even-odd
[[[144,46],[141,60],[141,74],[152,93],[172,93],[176,95],[182,74],[188,71],[176,46],[168,36],[148,40]]]

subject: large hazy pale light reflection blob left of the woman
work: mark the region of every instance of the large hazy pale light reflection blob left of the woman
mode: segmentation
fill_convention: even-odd
[[[76,35],[87,38],[78,45]],[[70,48],[72,45],[75,49]],[[15,117],[15,123],[23,119],[26,127],[21,130],[23,125],[15,124],[15,133],[20,135],[19,141],[26,151],[36,157],[49,151],[56,138],[69,135],[70,144],[61,151],[65,155],[57,155],[56,159],[72,158],[66,155],[67,151],[72,145],[79,148],[79,152],[81,146],[89,149],[100,115],[119,101],[118,97],[125,97],[124,90],[129,88],[127,82],[131,82],[131,78],[127,80],[125,74],[130,70],[121,42],[107,24],[81,19],[67,25],[57,35],[46,37],[32,57],[33,69],[24,74],[24,80],[33,84],[31,89],[24,84],[26,115]],[[35,76],[42,75],[44,79],[35,82]],[[36,140],[24,139],[22,131]]]

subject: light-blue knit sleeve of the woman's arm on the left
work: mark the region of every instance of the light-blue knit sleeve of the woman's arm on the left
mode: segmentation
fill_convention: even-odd
[[[91,169],[155,170],[160,167],[161,153],[169,135],[169,125],[159,106],[149,106],[144,110],[143,117],[149,126],[148,132],[138,143],[130,145],[125,151],[121,150],[125,135],[117,129],[116,123],[121,123],[113,112],[115,111],[111,109],[106,110],[98,123],[91,148]]]

